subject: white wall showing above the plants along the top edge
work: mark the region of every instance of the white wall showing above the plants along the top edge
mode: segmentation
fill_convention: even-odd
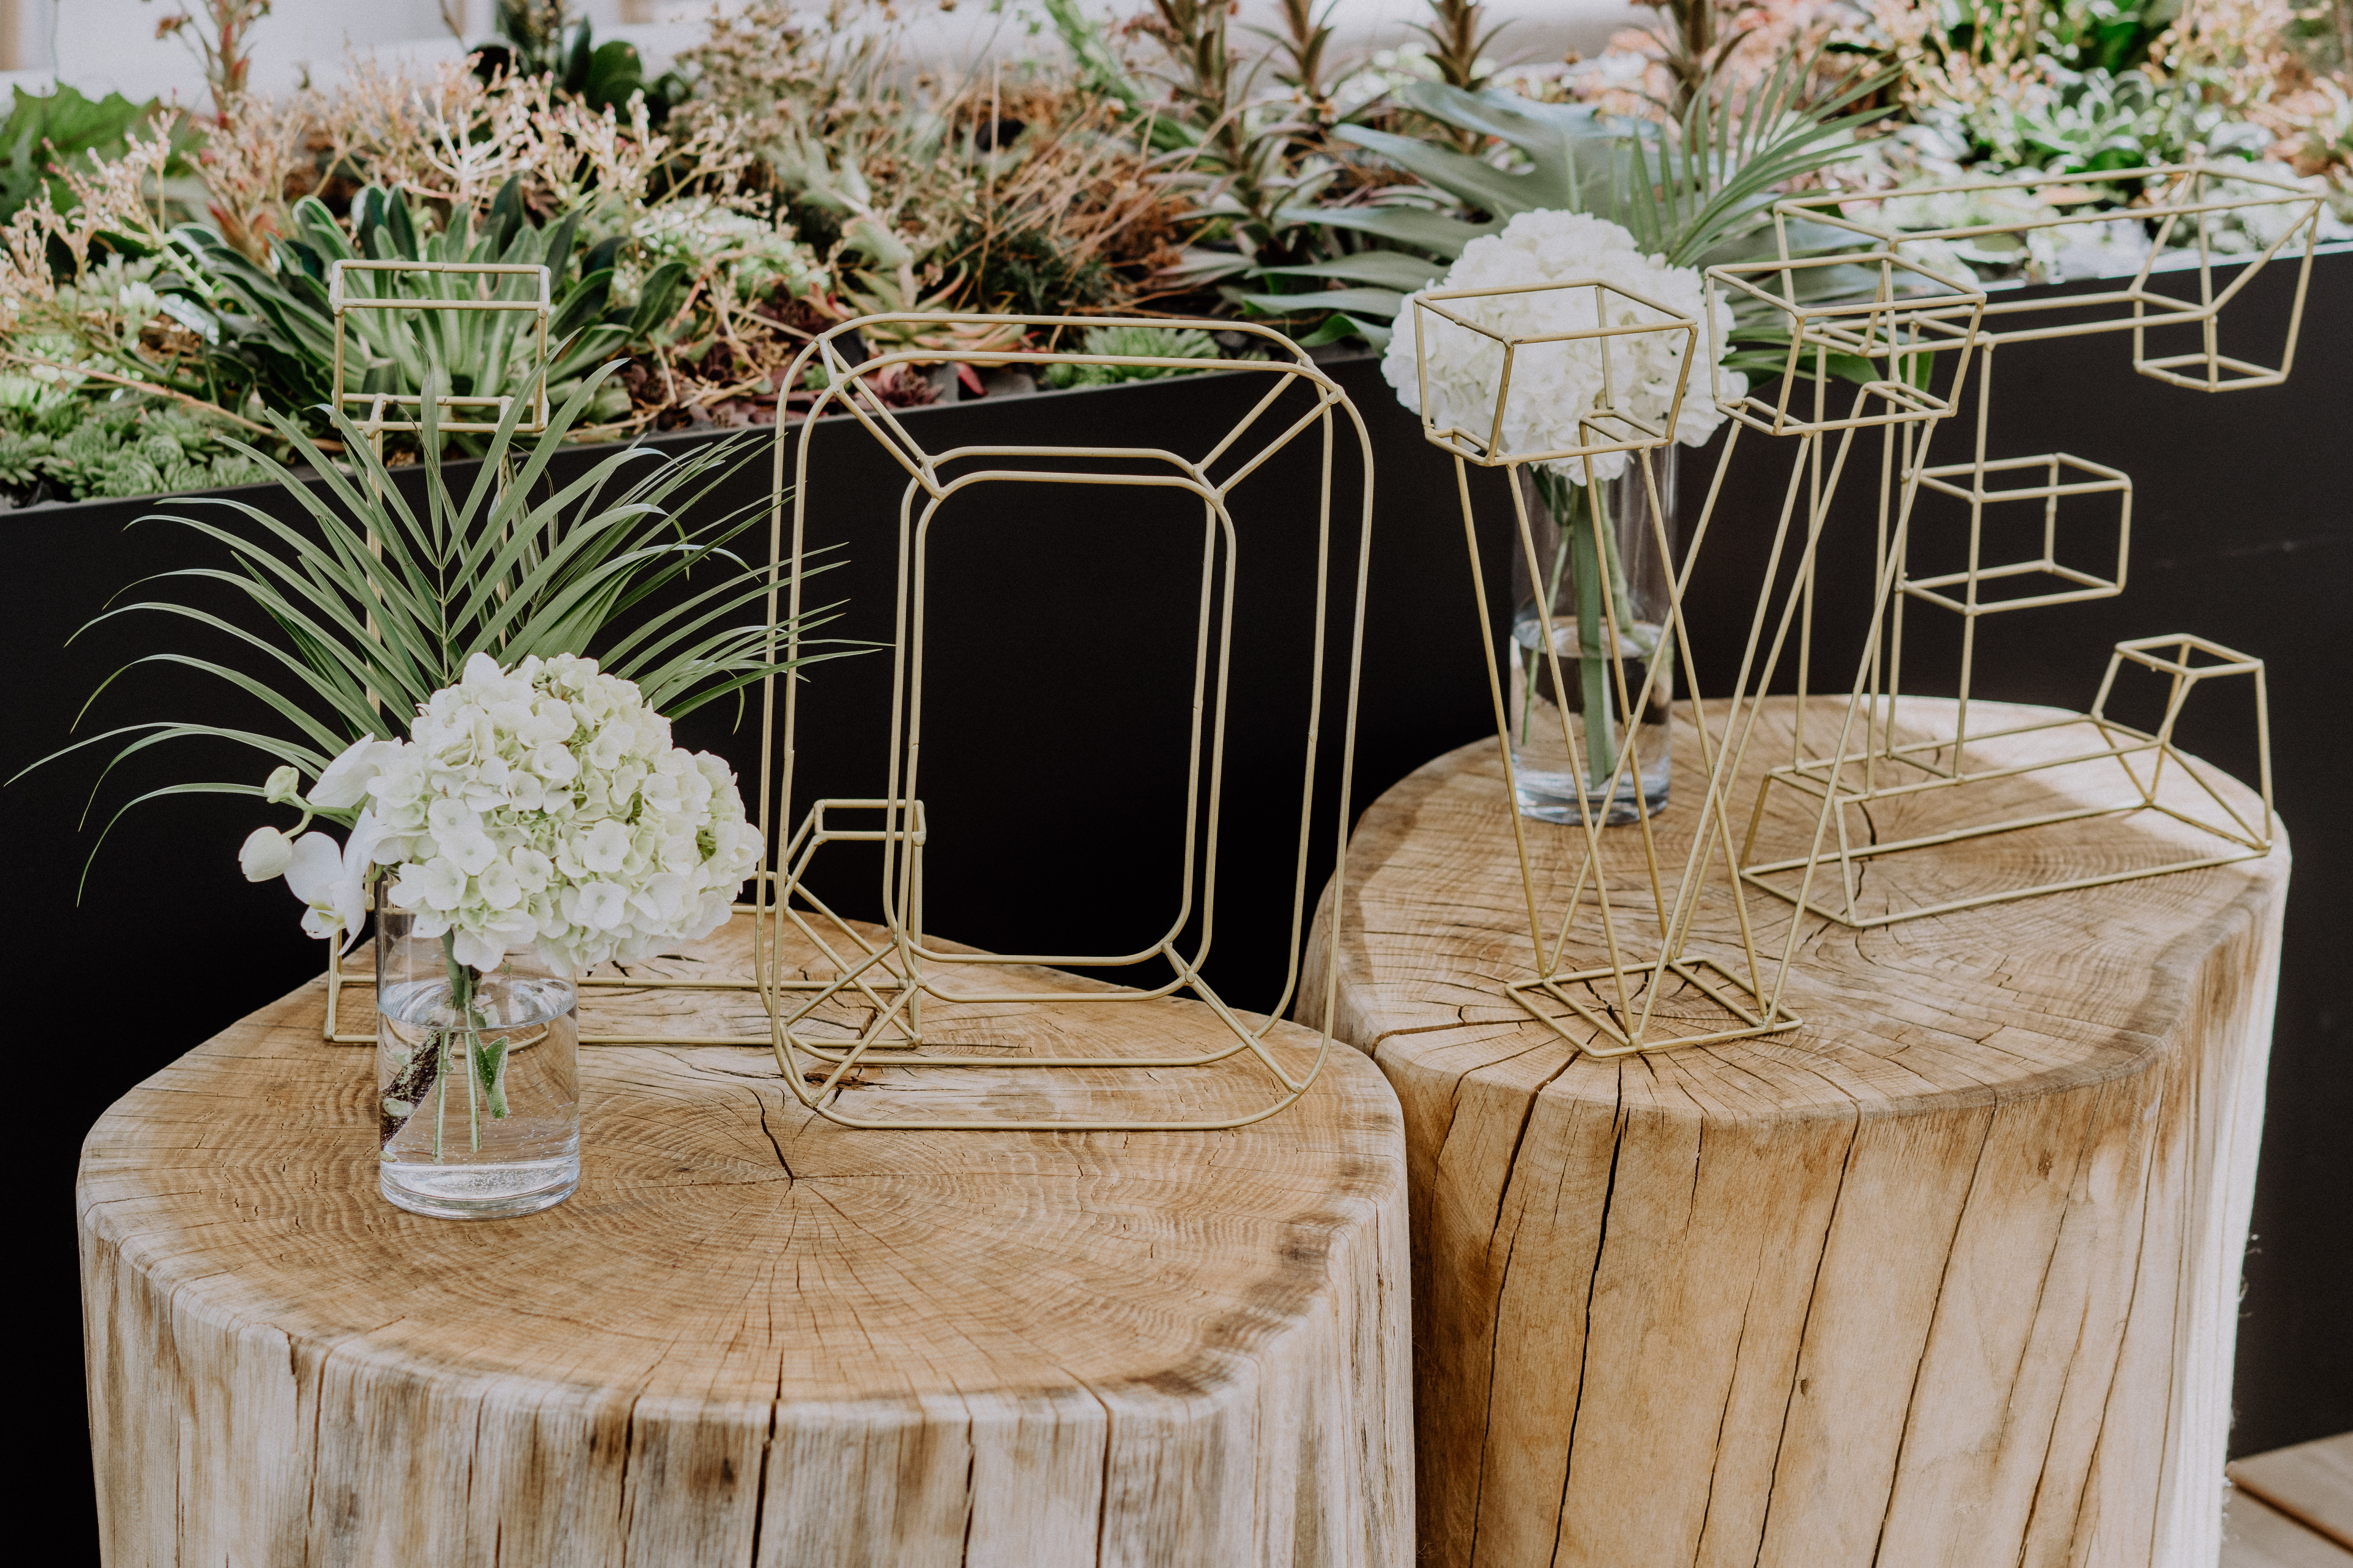
[[[739,9],[741,0],[720,0]],[[1127,16],[1148,0],[1087,0],[1099,14]],[[92,96],[120,92],[132,99],[205,101],[205,78],[186,45],[155,38],[155,21],[174,12],[174,0],[16,0],[14,59],[19,71],[0,73],[28,92],[68,82]],[[456,7],[454,7],[456,9]],[[489,35],[492,0],[461,0],[466,38]],[[704,33],[711,0],[576,0],[574,9],[595,24],[600,38],[628,38],[656,71]],[[1567,49],[1598,54],[1609,33],[1645,21],[1626,0],[1489,0],[1489,16],[1511,26],[1499,40],[1499,59],[1560,59]],[[5,9],[0,9],[5,14]],[[1012,0],[1005,12],[991,0],[960,0],[939,9],[936,0],[899,0],[915,52],[932,66],[972,66],[1052,45],[1052,31],[1033,35],[1035,19]],[[1275,26],[1275,0],[1242,0],[1242,21]],[[1341,54],[1393,49],[1414,38],[1428,19],[1426,0],[1339,0],[1334,24]],[[287,92],[304,80],[327,87],[344,75],[351,54],[395,59],[454,59],[435,0],[278,0],[254,31],[254,87]]]

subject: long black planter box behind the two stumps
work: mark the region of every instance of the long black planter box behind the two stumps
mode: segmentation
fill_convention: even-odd
[[[2271,268],[2226,317],[2252,343],[2285,329],[2292,270]],[[2353,517],[2344,458],[2353,433],[2353,256],[2313,270],[2297,374],[2285,388],[2207,397],[2129,369],[2129,339],[2101,336],[2002,350],[1998,451],[2071,451],[2137,477],[2129,590],[2118,599],[2026,611],[1988,623],[1977,691],[2080,708],[2120,637],[2193,630],[2271,665],[2273,766],[2299,872],[2287,917],[2273,1095],[2247,1260],[2247,1321],[2238,1363],[2233,1448],[2254,1453],[2353,1427],[2353,1366],[2337,1333],[2353,1298],[2353,1197],[2341,1128],[2353,1124],[2353,1009],[2329,976],[2353,945],[2341,886],[2353,879],[2353,832],[2341,813],[2346,691],[2353,651],[2346,585]],[[1351,813],[1428,757],[1492,733],[1487,679],[1471,611],[1471,576],[1452,463],[1424,444],[1372,357],[1334,360],[1377,454],[1374,543]],[[1224,435],[1259,376],[1193,376],[1038,397],[998,397],[906,414],[927,447],[1087,442],[1200,454]],[[678,447],[711,437],[666,437]],[[1946,442],[1953,442],[1948,435]],[[1762,569],[1762,545],[1786,480],[1786,451],[1746,442],[1746,465],[1706,545],[1689,604],[1701,686],[1720,693],[1739,658]],[[1946,451],[1958,454],[1951,444]],[[1697,496],[1713,449],[1685,454]],[[1857,451],[1864,458],[1864,449]],[[562,458],[588,463],[593,454]],[[1875,468],[1875,447],[1868,463]],[[456,475],[454,475],[456,477]],[[1238,1006],[1273,1006],[1289,950],[1294,844],[1306,726],[1306,611],[1313,592],[1315,442],[1297,444],[1235,496],[1240,585],[1224,764],[1217,943],[1207,973]],[[1492,475],[1485,571],[1508,581],[1508,503]],[[464,482],[464,477],[459,477]],[[1332,517],[1332,649],[1308,898],[1332,863],[1348,588],[1355,574],[1355,442],[1341,425]],[[762,501],[767,449],[715,503]],[[838,541],[842,567],[816,578],[821,602],[845,599],[826,635],[889,635],[901,470],[868,435],[831,421],[812,461],[812,529]],[[1864,489],[1861,484],[1854,487]],[[1184,708],[1198,611],[1198,505],[1045,484],[984,487],[941,520],[932,552],[929,717],[922,797],[934,849],[927,926],[1005,952],[1141,945],[1174,907],[1181,853]],[[292,515],[268,489],[238,498]],[[136,654],[191,649],[184,623],[122,616],[73,639],[108,599],[148,597],[136,578],[221,552],[186,529],[132,522],[167,501],[101,501],[0,515],[7,545],[7,773],[56,750],[85,698]],[[1868,512],[1849,501],[1833,522],[1824,569],[1817,689],[1845,689],[1868,611]],[[765,545],[765,529],[758,534]],[[1504,607],[1499,607],[1504,609]],[[1937,691],[1951,661],[1929,618],[1913,642],[1911,689]],[[795,813],[816,795],[875,795],[882,778],[889,665],[866,654],[819,665],[802,689]],[[155,717],[259,726],[266,712],[188,670],[148,665],[118,682],[75,733]],[[2224,717],[2217,712],[2217,717]],[[2252,776],[2252,736],[2219,722],[2186,736],[2193,750]],[[734,724],[715,703],[680,724],[680,741],[755,778],[758,710]],[[94,748],[111,750],[111,748]],[[87,1469],[71,1434],[71,1211],[66,1180],[89,1121],[238,1016],[318,971],[320,947],[296,931],[280,884],[249,886],[235,849],[261,820],[259,802],[148,802],[113,827],[80,903],[75,884],[96,827],[122,802],[184,778],[259,780],[256,755],[172,748],[134,759],[99,792],[96,757],[49,764],[0,795],[9,825],[14,898],[7,952],[16,961],[19,1084],[38,1107],[31,1159],[40,1213],[31,1258],[42,1269],[35,1316],[19,1335],[56,1371],[45,1415],[61,1441],[40,1458],[52,1490],[82,1495]],[[788,830],[791,823],[784,823]],[[871,865],[854,856],[824,886],[845,912],[873,914]],[[1129,971],[1106,978],[1148,980]],[[132,1006],[122,1006],[129,999]],[[1638,1070],[1638,1067],[1628,1067]],[[87,1516],[87,1514],[85,1514]]]

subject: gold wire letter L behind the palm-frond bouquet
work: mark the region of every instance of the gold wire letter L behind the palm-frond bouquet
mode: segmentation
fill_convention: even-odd
[[[426,275],[433,280],[435,289],[456,289],[440,296],[412,299],[412,296],[367,296],[346,294],[346,273],[391,273],[391,275]],[[529,280],[536,284],[525,299],[506,296],[504,289],[508,280]],[[344,315],[348,310],[402,310],[402,313],[438,313],[438,310],[461,310],[461,313],[494,313],[494,315],[532,315],[532,383],[527,388],[527,404],[522,418],[515,421],[515,435],[541,435],[548,428],[548,322],[553,317],[551,275],[546,266],[518,266],[518,263],[475,263],[475,261],[334,261],[327,268],[327,306],[334,313],[334,390],[332,407],[351,414],[358,409],[353,423],[367,444],[376,454],[381,468],[384,461],[384,437],[388,433],[416,435],[424,430],[426,395],[424,393],[384,393],[384,390],[358,390],[346,386],[346,362],[344,362]],[[435,428],[447,435],[494,435],[501,421],[513,411],[515,395],[435,395],[433,414]],[[449,418],[447,414],[456,414]],[[511,465],[501,465],[501,489],[513,477]],[[376,536],[367,536],[369,555],[381,559],[384,548]],[[769,604],[774,609],[774,602]],[[369,616],[367,632],[376,635],[374,616]],[[372,698],[374,701],[374,698]],[[369,912],[374,910],[374,891],[367,896]],[[753,905],[734,905],[734,910],[751,912]],[[341,1001],[346,985],[374,987],[374,971],[353,973],[344,969],[341,950],[327,943],[327,1013],[320,1020],[320,1037],[329,1046],[372,1046],[376,1044],[374,1032],[355,1034],[341,1030]],[[666,976],[576,976],[574,985],[581,990],[758,990],[758,980],[682,980]],[[767,1044],[765,1034],[729,1037],[729,1034],[647,1034],[647,1032],[621,1032],[621,1034],[593,1034],[584,1032],[579,1037],[584,1046],[760,1046]]]

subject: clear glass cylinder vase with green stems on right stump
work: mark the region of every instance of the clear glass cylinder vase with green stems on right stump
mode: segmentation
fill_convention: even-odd
[[[1633,823],[1666,809],[1668,719],[1675,703],[1675,632],[1668,614],[1673,451],[1647,454],[1659,491],[1657,522],[1642,477],[1645,454],[1628,454],[1626,470],[1602,480],[1598,494],[1548,468],[1520,470],[1534,543],[1534,571],[1520,541],[1513,541],[1511,557],[1506,717],[1520,816],[1579,823],[1579,797],[1584,811],[1600,823]],[[1659,524],[1666,552],[1659,550]],[[1553,649],[1560,656],[1558,689],[1555,665],[1544,651],[1539,602],[1551,614]],[[1628,750],[1633,764],[1626,764]]]

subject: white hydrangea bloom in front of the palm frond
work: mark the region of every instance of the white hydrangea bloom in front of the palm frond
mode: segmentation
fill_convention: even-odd
[[[355,931],[362,877],[395,867],[416,936],[449,933],[473,969],[536,950],[588,971],[711,936],[765,851],[727,764],[673,748],[635,682],[574,656],[475,654],[407,741],[358,741],[308,799],[367,809],[341,856],[292,844],[304,929]]]

